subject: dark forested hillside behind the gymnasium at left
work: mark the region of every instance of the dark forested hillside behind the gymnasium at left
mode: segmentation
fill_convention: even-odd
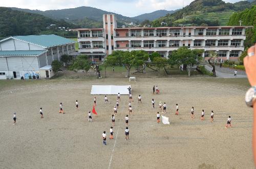
[[[58,29],[77,28],[64,20],[54,20],[42,15],[0,7],[0,39],[14,35],[57,34],[74,36],[72,31]]]

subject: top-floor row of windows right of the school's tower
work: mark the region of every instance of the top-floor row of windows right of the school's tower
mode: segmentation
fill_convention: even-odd
[[[232,29],[232,35],[242,35],[243,29],[242,28],[234,28]],[[131,30],[131,36],[141,36],[142,32],[141,30]],[[171,29],[169,30],[168,36],[180,36],[181,30],[180,29]],[[186,35],[183,33],[183,35]],[[191,35],[189,33],[188,35]],[[195,35],[203,36],[204,35],[204,29],[196,29]],[[217,29],[206,29],[205,32],[206,36],[215,36],[217,35]],[[229,35],[229,29],[219,29],[219,35]],[[116,36],[119,36],[119,33],[117,32]],[[129,33],[126,33],[126,36],[129,36]],[[154,30],[143,30],[143,36],[154,36]],[[161,29],[156,30],[156,36],[167,36],[167,30]]]

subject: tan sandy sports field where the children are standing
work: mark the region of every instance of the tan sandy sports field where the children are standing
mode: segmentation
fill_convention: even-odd
[[[93,123],[88,122],[93,84],[131,84],[136,101],[138,94],[142,95],[142,104],[132,103],[130,140],[125,141],[124,136],[126,95],[121,96],[115,139],[109,139],[109,129],[116,95],[109,96],[110,105],[104,103],[103,95],[96,96],[98,115],[93,115]],[[160,87],[159,95],[152,94],[153,85]],[[253,168],[253,114],[244,103],[247,88],[192,78],[9,86],[0,92],[0,168]],[[157,105],[166,102],[170,125],[156,123],[158,109],[152,107],[153,98]],[[60,102],[66,114],[58,113]],[[175,115],[176,103],[179,116]],[[191,106],[195,107],[195,119],[190,118]],[[204,121],[200,120],[202,109]],[[212,124],[210,110],[215,111]],[[13,112],[17,112],[15,126]],[[233,128],[226,129],[228,115]],[[103,131],[107,133],[106,146],[102,144]]]

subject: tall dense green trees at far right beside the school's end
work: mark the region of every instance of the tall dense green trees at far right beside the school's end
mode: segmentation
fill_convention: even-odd
[[[228,22],[229,26],[239,26],[239,20],[242,20],[243,26],[254,26],[253,29],[246,30],[245,46],[249,47],[256,43],[256,5],[242,12],[234,13]]]

